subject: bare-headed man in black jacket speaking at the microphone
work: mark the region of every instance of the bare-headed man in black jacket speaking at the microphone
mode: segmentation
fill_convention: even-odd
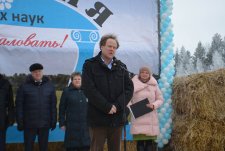
[[[120,151],[122,126],[133,83],[126,66],[115,58],[119,42],[114,35],[100,41],[101,51],[83,65],[83,89],[88,98],[88,124],[91,151],[103,151],[107,139],[109,151]]]

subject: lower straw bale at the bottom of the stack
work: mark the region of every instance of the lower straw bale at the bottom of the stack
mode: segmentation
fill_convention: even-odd
[[[176,117],[172,133],[175,151],[223,151],[225,126],[207,120]]]

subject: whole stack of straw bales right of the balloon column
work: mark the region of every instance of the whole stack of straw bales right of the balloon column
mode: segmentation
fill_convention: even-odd
[[[225,151],[225,70],[175,78],[175,151]]]

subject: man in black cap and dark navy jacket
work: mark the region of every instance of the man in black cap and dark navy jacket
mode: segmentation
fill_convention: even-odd
[[[56,127],[56,94],[50,80],[43,76],[43,66],[30,66],[28,75],[16,96],[17,129],[24,130],[25,151],[32,151],[36,136],[40,151],[48,150],[49,129]]]

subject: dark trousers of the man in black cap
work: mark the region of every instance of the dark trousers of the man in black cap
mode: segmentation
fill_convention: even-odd
[[[26,128],[24,129],[25,151],[33,151],[34,141],[38,137],[40,151],[48,150],[49,128]]]

